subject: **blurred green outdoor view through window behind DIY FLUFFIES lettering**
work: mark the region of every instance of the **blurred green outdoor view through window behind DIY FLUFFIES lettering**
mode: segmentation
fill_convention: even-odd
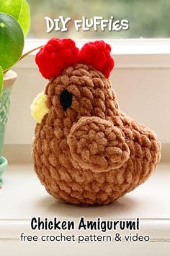
[[[170,38],[170,1],[169,0],[28,0],[32,10],[34,26],[31,27],[30,38],[71,37],[76,38]],[[75,32],[73,22],[69,23],[68,32],[45,33],[44,17],[51,18],[63,15],[79,20],[82,16],[91,18],[103,16],[115,20],[129,20],[129,29],[119,32]]]

